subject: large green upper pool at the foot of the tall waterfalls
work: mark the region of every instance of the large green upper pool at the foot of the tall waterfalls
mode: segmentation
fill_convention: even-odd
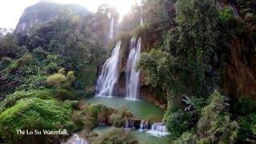
[[[125,98],[119,97],[94,97],[86,99],[86,102],[102,103],[105,106],[112,107],[115,109],[125,107],[127,110],[130,110],[130,112],[134,113],[134,115],[138,116],[139,118],[150,119],[158,122],[159,120],[162,120],[164,114],[164,110],[162,110],[158,106],[155,106],[154,103],[145,102],[142,100],[130,101],[126,100]]]

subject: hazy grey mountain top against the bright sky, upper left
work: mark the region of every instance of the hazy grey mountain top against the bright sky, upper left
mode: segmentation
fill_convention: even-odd
[[[39,22],[48,22],[54,18],[65,17],[66,12],[80,14],[82,16],[90,14],[90,12],[84,7],[74,4],[62,5],[51,2],[38,2],[24,10],[22,17],[18,21],[15,32],[28,32],[30,27],[34,24]]]

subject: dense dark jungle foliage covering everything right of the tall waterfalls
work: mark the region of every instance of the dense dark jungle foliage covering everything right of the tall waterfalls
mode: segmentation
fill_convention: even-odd
[[[137,34],[146,52],[139,68],[146,85],[166,93],[164,119],[171,137],[178,142],[255,142],[253,90],[242,93],[242,83],[236,87],[227,78],[233,62],[250,67],[252,61],[245,59],[255,56],[255,2],[148,0],[143,8],[146,26]],[[240,53],[236,58],[234,49]]]

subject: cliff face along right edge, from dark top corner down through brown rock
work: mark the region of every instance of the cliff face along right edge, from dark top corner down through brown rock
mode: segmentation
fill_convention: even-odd
[[[256,21],[253,17],[256,2],[234,0],[221,2],[224,6],[232,6],[234,14],[237,14],[238,26],[235,27],[235,22],[232,22],[229,28],[241,30],[234,33],[226,48],[224,90],[233,98],[256,99]]]

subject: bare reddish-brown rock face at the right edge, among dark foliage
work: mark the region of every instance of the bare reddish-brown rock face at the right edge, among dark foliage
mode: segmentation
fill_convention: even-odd
[[[238,38],[230,42],[229,64],[226,66],[224,87],[234,98],[256,99],[256,54],[253,41]]]

